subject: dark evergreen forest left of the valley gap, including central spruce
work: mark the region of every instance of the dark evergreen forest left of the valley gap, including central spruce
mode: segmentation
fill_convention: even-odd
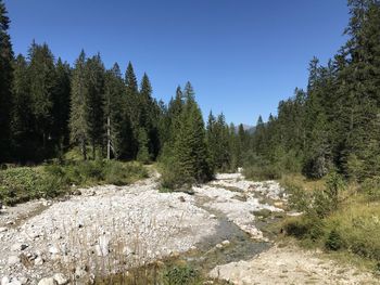
[[[163,161],[173,185],[206,181],[241,160],[241,139],[223,114],[205,127],[190,82],[165,104],[129,62],[105,68],[83,50],[74,66],[33,41],[14,55],[0,0],[0,163],[38,164],[78,150],[83,159]],[[241,134],[241,133],[240,133]],[[168,179],[167,181],[170,181]]]

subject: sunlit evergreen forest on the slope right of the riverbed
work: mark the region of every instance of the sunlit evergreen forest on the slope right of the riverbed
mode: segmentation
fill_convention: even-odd
[[[307,89],[257,121],[251,151],[273,172],[363,181],[380,171],[380,2],[349,0],[346,43],[326,66],[314,57]],[[264,163],[263,163],[264,161]]]

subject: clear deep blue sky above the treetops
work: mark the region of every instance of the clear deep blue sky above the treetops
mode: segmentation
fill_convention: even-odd
[[[193,83],[204,112],[254,125],[305,87],[307,65],[345,41],[346,0],[5,0],[15,53],[33,39],[73,63],[84,48],[106,67],[131,61],[165,102]]]

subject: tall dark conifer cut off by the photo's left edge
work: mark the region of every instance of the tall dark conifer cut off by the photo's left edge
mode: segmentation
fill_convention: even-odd
[[[10,122],[12,109],[13,50],[8,34],[10,20],[4,3],[0,0],[0,163],[9,159]]]

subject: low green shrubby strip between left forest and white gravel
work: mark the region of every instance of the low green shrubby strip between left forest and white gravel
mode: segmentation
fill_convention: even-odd
[[[72,186],[96,184],[126,185],[148,177],[138,163],[105,160],[71,161],[38,167],[0,170],[0,199],[15,205],[36,198],[52,198],[68,193]]]

